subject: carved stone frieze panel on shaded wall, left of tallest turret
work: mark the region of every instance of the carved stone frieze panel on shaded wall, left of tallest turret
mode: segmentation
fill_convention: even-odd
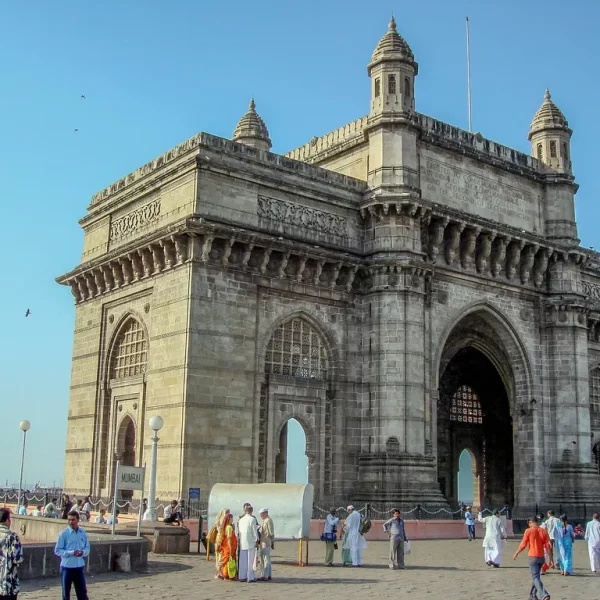
[[[326,213],[299,204],[258,196],[258,216],[269,221],[279,221],[296,227],[312,229],[341,237],[348,235],[346,217]]]

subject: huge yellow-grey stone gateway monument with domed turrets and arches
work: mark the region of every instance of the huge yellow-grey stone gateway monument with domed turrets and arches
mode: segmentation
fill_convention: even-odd
[[[456,506],[464,450],[477,506],[598,502],[567,120],[546,91],[529,156],[417,112],[393,19],[367,73],[368,115],[285,155],[252,101],[92,197],[65,491],[110,496],[159,414],[160,500],[285,481],[293,418],[320,506]]]

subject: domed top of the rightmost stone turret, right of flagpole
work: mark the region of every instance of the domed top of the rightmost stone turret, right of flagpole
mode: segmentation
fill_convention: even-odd
[[[531,155],[547,167],[571,174],[571,134],[569,123],[552,102],[549,90],[529,128]]]

